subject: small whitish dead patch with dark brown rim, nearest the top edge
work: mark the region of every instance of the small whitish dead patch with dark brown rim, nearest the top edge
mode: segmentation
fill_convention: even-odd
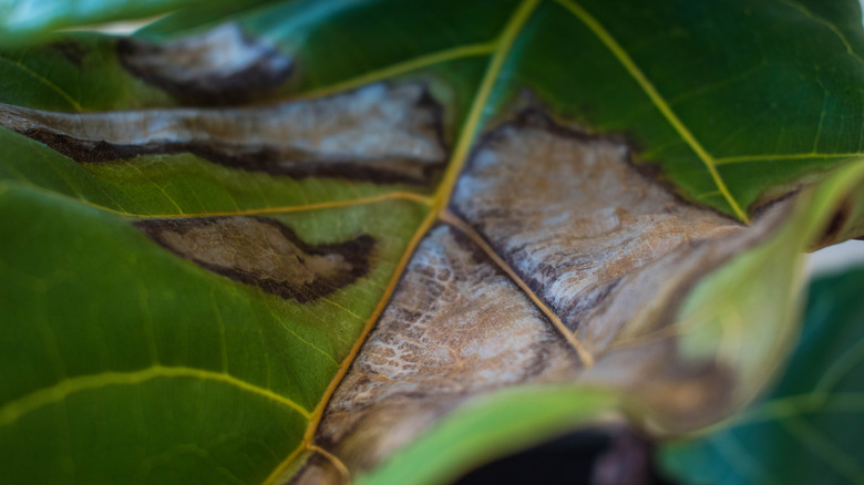
[[[134,75],[189,103],[255,99],[288,80],[294,68],[290,56],[236,23],[165,43],[121,39],[117,56]]]

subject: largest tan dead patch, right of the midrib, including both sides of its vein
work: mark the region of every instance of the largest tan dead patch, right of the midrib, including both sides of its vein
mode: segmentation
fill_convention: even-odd
[[[466,400],[523,384],[618,389],[666,430],[728,413],[740,399],[733,367],[688,357],[677,314],[789,205],[745,227],[681,200],[629,157],[537,111],[487,133],[444,217],[461,229],[439,226],[418,247],[316,444],[367,469]],[[292,483],[339,482],[337,468],[318,456]]]

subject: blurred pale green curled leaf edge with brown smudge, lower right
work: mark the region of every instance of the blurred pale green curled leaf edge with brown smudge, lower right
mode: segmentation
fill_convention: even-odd
[[[516,446],[514,442],[520,440],[532,441],[538,436],[562,433],[563,427],[575,426],[578,420],[608,420],[604,405],[608,406],[609,403],[630,417],[647,420],[652,424],[649,427],[659,425],[680,431],[698,425],[693,419],[704,420],[721,413],[730,400],[740,403],[752,399],[771,375],[772,368],[782,361],[788,342],[796,334],[793,300],[796,296],[795,281],[799,279],[795,268],[802,250],[800,245],[820,235],[824,229],[820,221],[824,220],[826,214],[835,211],[839,200],[851,197],[860,203],[864,195],[861,190],[864,176],[862,168],[860,164],[850,166],[823,182],[817,190],[802,195],[799,207],[772,236],[703,278],[690,291],[673,320],[658,321],[656,316],[650,314],[641,319],[631,318],[628,323],[632,327],[620,330],[608,347],[598,352],[601,357],[597,363],[587,371],[576,373],[572,381],[549,384],[543,379],[526,379],[522,389],[503,386],[488,391],[475,388],[474,392],[481,394],[480,398],[441,419],[429,432],[419,434],[416,442],[397,447],[382,465],[361,473],[359,481],[374,484],[448,483],[496,453],[513,452]],[[714,242],[714,246],[720,244]],[[701,251],[695,252],[689,256],[698,257]],[[706,252],[712,251],[709,249]],[[704,257],[704,252],[700,256]],[[683,261],[671,259],[687,267],[686,258]],[[656,266],[662,268],[662,264]],[[647,272],[650,275],[651,271]],[[632,278],[636,281],[639,279]],[[670,283],[676,285],[673,281]],[[634,290],[629,291],[632,295]],[[662,290],[657,292],[662,293]],[[398,298],[399,293],[394,301]],[[640,328],[639,324],[646,321],[654,322],[655,327]],[[371,342],[378,343],[376,337],[379,332],[387,332],[383,324],[373,331],[367,347],[371,347]],[[593,341],[587,340],[586,343]],[[380,355],[377,350],[372,348],[370,353]],[[707,360],[706,355],[711,355],[711,360]],[[363,359],[362,354],[360,359]],[[543,354],[543,360],[553,361],[548,354]],[[379,364],[378,369],[388,370],[388,365]],[[688,371],[692,374],[685,373]],[[730,381],[732,385],[727,386]],[[343,385],[348,388],[348,383],[354,384],[350,373]],[[393,385],[388,388],[392,389]],[[333,403],[339,403],[340,391],[337,391],[329,410],[336,407]],[[351,391],[348,393],[351,394]],[[379,391],[378,394],[382,393]],[[426,396],[425,401],[438,403],[444,395],[445,392],[439,391]],[[538,399],[536,395],[543,395],[542,399],[547,402],[543,405],[526,404]],[[451,394],[453,400],[461,398],[459,393]],[[387,395],[379,399],[369,406],[371,413],[392,401],[394,399]],[[414,407],[418,401],[423,402],[413,399]],[[566,405],[570,406],[573,414],[560,416],[558,410]],[[388,411],[382,417],[374,416],[372,420],[378,419],[395,429],[392,422],[400,416],[402,409],[394,406]],[[340,413],[332,412],[330,416],[330,412],[325,415],[321,425],[322,440],[327,436],[328,417],[337,422],[346,421]],[[361,420],[366,417],[364,413],[370,412],[354,410]],[[407,414],[422,415],[415,409]],[[574,423],[570,420],[577,421]],[[413,417],[405,421],[418,425]],[[551,429],[551,421],[557,421],[557,427]],[[645,421],[642,425],[646,425]],[[488,432],[493,437],[469,436],[483,427],[494,430]],[[362,455],[370,454],[370,444],[377,443],[381,448],[392,446],[387,440],[377,438],[369,429],[374,426],[367,425],[367,430],[363,430],[367,447]],[[398,429],[411,430],[411,425],[403,424]],[[655,427],[654,431],[656,433],[658,430]],[[349,435],[337,447],[342,456],[347,456],[348,463],[356,460],[351,455],[351,440]],[[483,444],[465,445],[476,442]],[[433,453],[434,450],[455,451],[443,452],[439,456]],[[319,464],[319,467],[327,469],[330,465]],[[310,478],[310,482],[316,478]]]

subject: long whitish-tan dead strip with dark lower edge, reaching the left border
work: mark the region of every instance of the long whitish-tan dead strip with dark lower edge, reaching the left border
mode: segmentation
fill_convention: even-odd
[[[189,152],[296,178],[425,185],[446,159],[442,111],[421,84],[381,83],[266,107],[58,113],[0,104],[0,126],[78,162]]]

